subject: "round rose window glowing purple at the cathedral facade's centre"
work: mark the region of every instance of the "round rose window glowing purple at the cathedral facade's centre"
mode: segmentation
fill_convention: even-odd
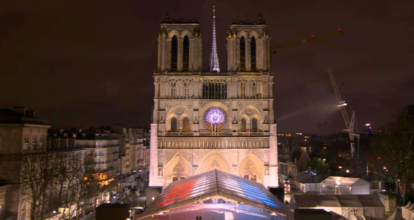
[[[227,115],[219,107],[210,107],[204,113],[204,125],[210,131],[220,131],[227,122]]]

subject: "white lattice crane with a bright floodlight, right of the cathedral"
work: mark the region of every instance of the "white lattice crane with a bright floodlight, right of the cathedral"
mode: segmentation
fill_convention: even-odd
[[[329,66],[328,66],[328,73],[329,73],[329,77],[332,82],[332,86],[334,87],[335,95],[338,100],[339,109],[341,110],[342,117],[344,118],[345,126],[347,127],[347,130],[349,133],[349,142],[351,143],[352,158],[355,158],[355,156],[359,157],[359,149],[357,149],[357,155],[355,155],[355,141],[354,141],[355,137],[358,138],[358,148],[359,148],[359,134],[354,133],[355,111],[352,110],[352,117],[351,117],[351,120],[349,120],[347,109],[345,109],[345,106],[347,106],[347,103],[342,99],[341,94],[339,93],[339,89],[335,81],[334,74],[332,73],[332,70]]]

